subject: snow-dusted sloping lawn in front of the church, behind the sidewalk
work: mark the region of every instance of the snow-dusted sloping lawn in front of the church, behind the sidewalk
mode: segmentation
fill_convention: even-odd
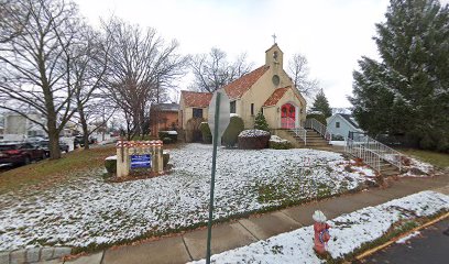
[[[0,194],[0,251],[23,246],[111,244],[206,223],[211,145],[171,150],[173,170],[151,179],[105,183],[102,168],[47,189]],[[360,187],[340,154],[226,150],[217,157],[215,219]]]

